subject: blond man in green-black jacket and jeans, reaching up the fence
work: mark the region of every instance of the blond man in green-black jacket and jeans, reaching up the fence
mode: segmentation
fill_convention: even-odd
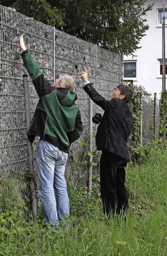
[[[69,215],[65,165],[71,143],[83,131],[80,110],[74,103],[77,99],[73,91],[75,82],[70,76],[63,75],[51,86],[27,51],[23,36],[17,46],[23,51],[24,66],[39,96],[28,138],[33,142],[36,135],[40,136],[36,154],[39,195],[45,221],[54,226]]]

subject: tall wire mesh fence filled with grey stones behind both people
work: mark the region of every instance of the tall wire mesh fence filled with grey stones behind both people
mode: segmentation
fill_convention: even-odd
[[[13,177],[26,177],[28,156],[26,143],[25,109],[23,93],[23,74],[26,70],[21,59],[20,49],[16,46],[23,34],[27,49],[37,62],[44,77],[51,84],[63,74],[73,76],[76,83],[76,101],[80,108],[84,132],[80,141],[72,144],[66,168],[67,183],[76,190],[87,184],[88,162],[88,96],[83,90],[80,72],[87,68],[89,80],[106,99],[111,98],[112,90],[123,81],[122,57],[90,44],[54,27],[23,16],[16,11],[0,5],[0,174]],[[31,117],[38,102],[38,96],[29,80]],[[150,105],[149,105],[150,104]],[[143,137],[151,138],[152,103],[143,103]],[[103,113],[93,104],[93,114]],[[148,118],[149,116],[149,118]],[[157,111],[159,118],[159,110]],[[148,121],[149,120],[149,121]],[[157,130],[158,130],[157,122]],[[93,125],[93,132],[97,125]],[[157,133],[158,134],[158,133]],[[129,138],[130,139],[130,138]],[[33,143],[34,158],[39,138]],[[95,148],[95,143],[93,142]],[[96,159],[95,159],[96,161]],[[98,170],[97,165],[93,171]],[[36,164],[35,164],[36,170]]]

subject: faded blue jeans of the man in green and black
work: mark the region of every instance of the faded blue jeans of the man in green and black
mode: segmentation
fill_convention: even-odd
[[[39,196],[45,221],[53,226],[69,215],[69,199],[64,177],[67,158],[67,153],[47,141],[40,140],[36,154]]]

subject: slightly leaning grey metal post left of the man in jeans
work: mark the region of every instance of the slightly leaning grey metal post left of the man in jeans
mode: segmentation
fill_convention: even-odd
[[[28,75],[23,75],[23,86],[24,86],[24,97],[25,97],[25,112],[26,112],[26,132],[28,135],[28,128],[31,122],[30,117],[30,104],[29,104],[29,86],[28,86]],[[29,172],[32,174],[32,182],[30,184],[30,199],[33,219],[37,217],[37,203],[35,194],[35,182],[34,182],[34,158],[32,143],[29,142],[27,136],[27,150],[28,150],[28,166]]]

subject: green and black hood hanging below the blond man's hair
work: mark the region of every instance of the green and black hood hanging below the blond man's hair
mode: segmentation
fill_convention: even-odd
[[[56,88],[56,90],[58,100],[66,107],[71,106],[77,100],[77,95],[74,91],[65,88]]]

